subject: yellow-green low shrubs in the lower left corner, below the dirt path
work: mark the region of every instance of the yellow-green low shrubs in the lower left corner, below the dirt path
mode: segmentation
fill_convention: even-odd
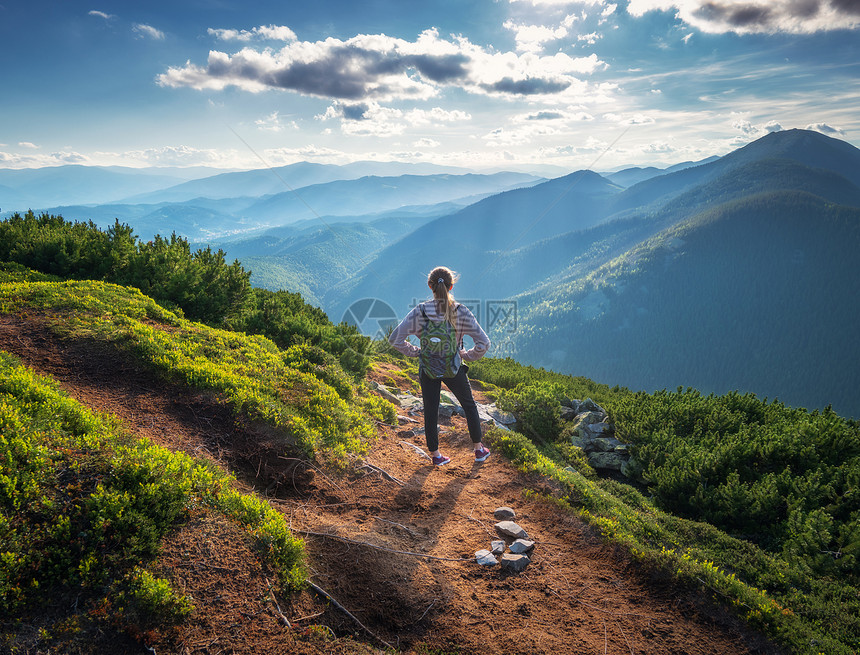
[[[86,616],[129,630],[184,620],[193,601],[147,565],[169,531],[202,511],[243,525],[285,585],[305,579],[303,543],[269,504],[209,463],[134,439],[6,353],[0,462],[4,640],[34,603],[68,593]]]

